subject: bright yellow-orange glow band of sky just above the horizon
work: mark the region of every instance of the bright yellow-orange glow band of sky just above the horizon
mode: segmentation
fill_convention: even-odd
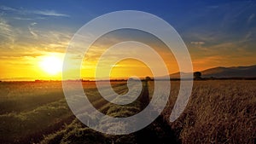
[[[173,55],[166,55],[165,52],[160,52],[159,54],[163,60],[165,60],[170,73],[179,72],[177,61]],[[194,72],[215,66],[241,66],[239,63],[234,65],[235,60],[226,60],[225,57],[221,56],[200,58],[199,56],[193,55],[193,52],[191,52],[191,54]],[[0,80],[61,80],[61,63],[64,55],[64,53],[44,53],[44,55],[36,57],[2,57],[0,59],[2,69],[0,73]],[[81,78],[95,78],[96,59],[97,58],[86,60],[86,62],[82,64],[80,70]],[[253,61],[255,58],[252,57],[250,59],[251,60],[249,60],[249,57],[247,57],[247,60],[236,58],[236,60],[240,60],[247,64],[247,66],[251,65],[250,63],[247,63],[247,61]],[[72,70],[71,68],[70,75],[72,75],[73,71],[77,70]],[[103,69],[102,72],[102,78],[106,77],[106,73],[104,73]],[[113,66],[110,73],[110,78],[129,78],[131,76],[137,76],[139,78],[144,78],[146,76],[152,77],[152,73],[148,66],[145,66],[138,60],[122,60]]]

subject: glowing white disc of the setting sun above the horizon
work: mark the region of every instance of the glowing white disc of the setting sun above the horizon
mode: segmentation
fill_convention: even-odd
[[[62,60],[54,55],[46,56],[40,61],[40,67],[44,72],[55,75],[62,70]]]

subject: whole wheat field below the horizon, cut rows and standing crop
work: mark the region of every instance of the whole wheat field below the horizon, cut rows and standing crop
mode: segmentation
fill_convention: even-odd
[[[143,82],[148,97],[154,93],[153,81]],[[159,118],[143,130],[130,135],[105,135],[91,130],[73,116],[65,101],[61,82],[0,83],[1,143],[254,143],[256,137],[256,81],[195,81],[189,103],[182,115],[169,122],[179,91],[171,82],[167,106]],[[117,106],[102,99],[95,84],[83,83],[91,103],[113,117],[129,117],[143,110],[145,101]],[[125,82],[113,89],[125,94]],[[143,92],[145,93],[145,91]],[[145,96],[145,95],[143,95]],[[145,97],[143,97],[145,99]],[[146,103],[147,105],[147,103]],[[96,117],[95,117],[96,118]],[[92,118],[93,120],[93,118]],[[129,126],[129,125],[126,125]],[[119,129],[104,124],[102,129]],[[143,137],[147,137],[147,139]]]

